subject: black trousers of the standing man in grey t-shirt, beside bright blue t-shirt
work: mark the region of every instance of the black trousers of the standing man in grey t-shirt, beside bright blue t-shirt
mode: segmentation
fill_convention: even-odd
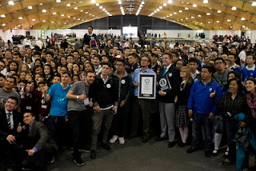
[[[90,113],[87,110],[82,111],[68,111],[71,137],[73,141],[74,153],[78,153],[79,142],[88,144],[91,133],[91,119]]]

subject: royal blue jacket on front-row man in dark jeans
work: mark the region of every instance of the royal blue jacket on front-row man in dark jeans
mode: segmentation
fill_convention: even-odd
[[[190,89],[190,98],[187,109],[193,109],[196,113],[209,114],[217,113],[218,109],[210,98],[210,93],[215,90],[215,97],[220,100],[222,97],[222,88],[218,82],[211,80],[206,85],[202,81],[194,82]]]

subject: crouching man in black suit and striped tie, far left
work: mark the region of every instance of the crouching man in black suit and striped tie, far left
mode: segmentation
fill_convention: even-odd
[[[22,131],[22,115],[15,109],[18,107],[18,98],[9,97],[5,108],[0,110],[0,170],[6,159],[19,166],[20,148],[19,134]]]

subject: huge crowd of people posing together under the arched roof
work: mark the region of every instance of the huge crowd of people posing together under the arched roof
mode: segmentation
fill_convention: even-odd
[[[80,149],[95,159],[98,145],[110,150],[109,143],[134,137],[167,140],[166,148],[191,145],[186,153],[204,147],[205,157],[226,145],[223,165],[255,169],[250,42],[197,42],[193,51],[178,42],[138,46],[132,39],[99,41],[88,26],[76,49],[36,45],[0,50],[0,170],[44,170],[63,148],[73,148],[80,166]],[[155,99],[138,97],[140,74],[156,75]]]

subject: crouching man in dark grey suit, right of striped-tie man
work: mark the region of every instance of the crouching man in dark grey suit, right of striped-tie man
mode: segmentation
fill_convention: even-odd
[[[36,170],[44,170],[46,162],[57,154],[58,145],[51,138],[49,130],[40,121],[35,121],[34,113],[26,112],[23,115],[26,129],[23,130],[26,137],[25,167],[32,167]]]

